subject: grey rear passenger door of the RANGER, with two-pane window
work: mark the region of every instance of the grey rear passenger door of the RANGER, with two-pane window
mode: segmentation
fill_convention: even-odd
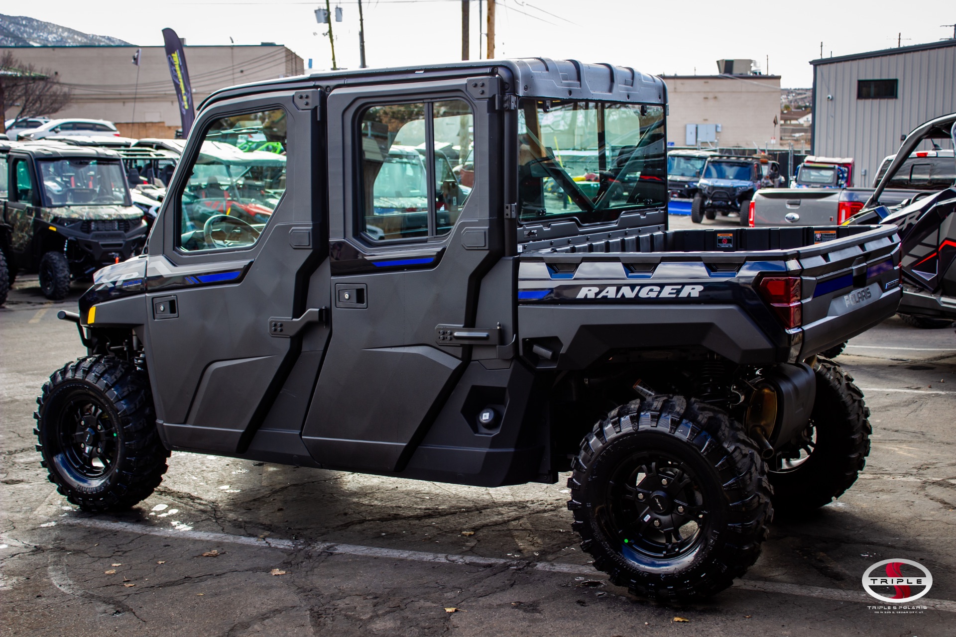
[[[323,466],[400,470],[468,344],[498,345],[497,326],[473,321],[501,254],[491,211],[502,197],[484,188],[501,183],[489,158],[501,157],[502,118],[466,87],[458,78],[328,97],[333,333],[303,430]],[[448,169],[472,151],[473,188]]]

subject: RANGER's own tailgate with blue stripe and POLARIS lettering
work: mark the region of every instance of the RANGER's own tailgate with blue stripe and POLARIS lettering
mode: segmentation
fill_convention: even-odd
[[[803,346],[800,357],[842,343],[892,316],[900,305],[900,238],[880,226],[849,243],[836,228],[815,230],[820,241],[799,250]]]

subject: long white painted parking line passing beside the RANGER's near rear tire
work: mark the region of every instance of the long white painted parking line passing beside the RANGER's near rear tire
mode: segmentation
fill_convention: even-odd
[[[183,538],[185,540],[227,542],[245,544],[247,546],[269,546],[281,550],[293,548],[311,548],[323,553],[337,555],[356,555],[370,558],[387,558],[389,560],[409,560],[412,562],[474,564],[474,565],[505,565],[512,568],[534,568],[536,570],[567,573],[570,575],[585,575],[592,578],[603,578],[603,573],[586,564],[570,564],[558,562],[526,562],[523,560],[503,560],[501,558],[482,558],[470,555],[449,555],[446,553],[426,553],[424,551],[402,551],[394,548],[380,548],[378,546],[359,546],[357,544],[339,544],[337,542],[317,542],[306,544],[291,540],[270,540],[250,538],[247,536],[229,535],[228,533],[207,533],[206,531],[177,531],[159,526],[147,526],[131,522],[113,522],[96,520],[93,518],[63,518],[62,524],[75,524],[87,528],[96,528],[104,531],[133,533],[137,535],[152,535],[161,538]],[[781,582],[766,582],[763,580],[737,580],[734,588],[779,595],[797,595],[799,597],[815,597],[823,600],[838,600],[857,604],[880,604],[863,591],[842,590],[839,588],[823,588],[821,586],[805,586],[801,584],[785,584]],[[934,610],[956,612],[956,602],[949,600],[933,600],[922,598],[920,605]]]

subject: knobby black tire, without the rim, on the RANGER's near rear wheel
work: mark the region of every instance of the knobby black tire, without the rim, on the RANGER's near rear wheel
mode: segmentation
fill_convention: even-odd
[[[693,484],[702,490],[698,508],[707,514],[700,542],[689,553],[692,558],[682,557],[677,567],[656,567],[655,558],[630,549],[630,555],[644,561],[641,565],[625,557],[628,541],[621,543],[622,533],[615,538],[605,531],[616,467],[655,449],[680,457],[692,469]],[[772,517],[767,466],[750,438],[721,410],[679,395],[635,400],[598,422],[581,444],[568,487],[573,526],[595,568],[614,584],[651,599],[702,599],[727,588],[756,562]],[[638,523],[643,515],[638,513]],[[646,528],[646,520],[644,524]]]

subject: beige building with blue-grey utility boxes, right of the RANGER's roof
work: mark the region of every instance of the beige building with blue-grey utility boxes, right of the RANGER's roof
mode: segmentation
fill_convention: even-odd
[[[667,145],[774,148],[780,139],[780,75],[662,75]],[[688,130],[688,126],[690,130]]]

